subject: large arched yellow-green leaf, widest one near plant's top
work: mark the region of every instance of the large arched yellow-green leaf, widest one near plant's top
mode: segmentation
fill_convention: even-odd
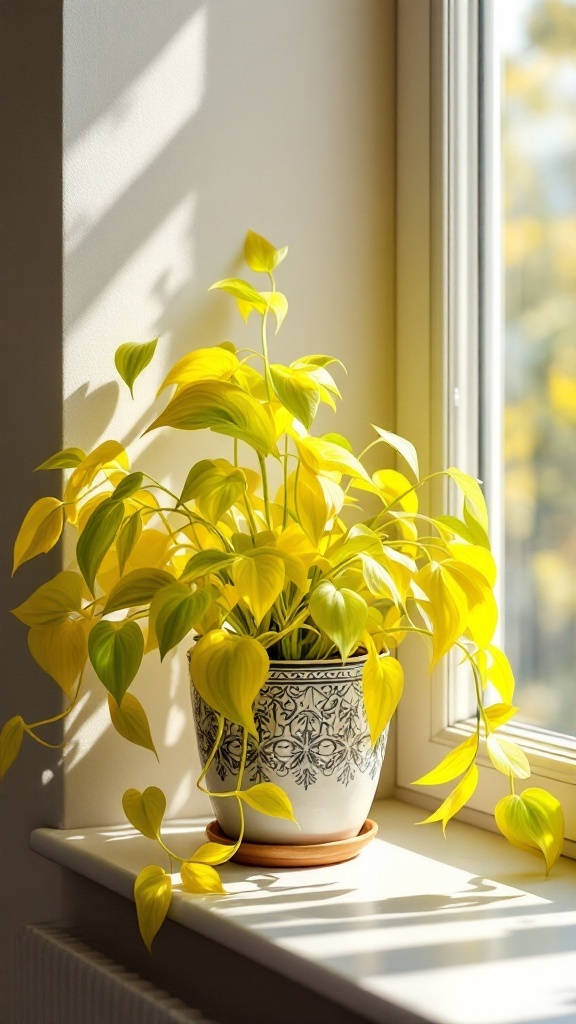
[[[268,407],[228,381],[200,381],[180,388],[145,433],[157,427],[213,430],[245,441],[263,456],[276,445],[276,426]]]

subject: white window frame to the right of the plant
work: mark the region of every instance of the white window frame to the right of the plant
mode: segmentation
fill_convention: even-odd
[[[416,444],[422,475],[457,465],[478,476],[482,446],[501,562],[499,426],[484,438],[478,429],[481,387],[496,395],[499,417],[503,406],[501,348],[481,352],[479,344],[481,331],[497,338],[501,326],[500,266],[492,255],[500,230],[499,68],[493,48],[478,55],[481,22],[492,32],[496,8],[494,0],[398,5],[397,427]],[[482,136],[491,148],[487,157],[484,151],[481,179]],[[429,485],[433,511],[452,500],[446,484]],[[396,795],[435,807],[452,785],[433,793],[412,782],[471,732],[469,690],[457,694],[449,658],[430,679],[427,652],[416,640],[402,645],[400,657],[406,690],[398,713]],[[526,749],[532,766],[517,792],[543,786],[562,801],[565,852],[576,856],[576,743],[521,725],[505,732]],[[479,764],[478,790],[460,816],[495,828],[493,809],[508,793],[506,779],[484,754]]]

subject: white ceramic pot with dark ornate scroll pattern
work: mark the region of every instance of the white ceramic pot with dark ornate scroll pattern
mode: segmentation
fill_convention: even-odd
[[[250,737],[243,787],[275,782],[288,795],[292,821],[245,808],[245,840],[251,843],[317,844],[349,839],[360,831],[374,799],[386,732],[370,741],[362,696],[365,657],[340,662],[272,662],[254,701],[258,742]],[[202,764],[214,744],[217,719],[192,681],[196,733]],[[237,785],[242,729],[227,722],[206,776],[208,788]],[[223,831],[239,833],[237,801],[212,799]]]

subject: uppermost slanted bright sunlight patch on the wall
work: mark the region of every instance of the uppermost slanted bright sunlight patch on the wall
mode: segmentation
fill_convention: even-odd
[[[65,154],[71,253],[198,112],[206,88],[206,7]]]

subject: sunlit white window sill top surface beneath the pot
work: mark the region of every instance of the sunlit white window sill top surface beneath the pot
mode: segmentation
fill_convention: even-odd
[[[228,898],[176,891],[170,918],[376,1022],[574,1024],[576,862],[541,861],[498,836],[374,805],[378,837],[330,867],[224,865]],[[182,856],[204,820],[168,825]],[[32,848],[131,897],[160,851],[131,828],[32,834]],[[408,1013],[407,1013],[408,1012]],[[414,1016],[412,1016],[414,1015]]]

